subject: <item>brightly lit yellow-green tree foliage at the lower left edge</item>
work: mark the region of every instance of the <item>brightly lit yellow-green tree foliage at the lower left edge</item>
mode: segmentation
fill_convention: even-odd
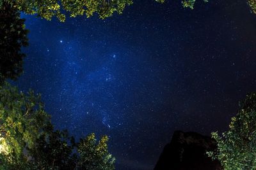
[[[24,148],[33,148],[42,129],[49,125],[40,96],[18,92],[8,83],[0,87],[0,169],[23,167]]]

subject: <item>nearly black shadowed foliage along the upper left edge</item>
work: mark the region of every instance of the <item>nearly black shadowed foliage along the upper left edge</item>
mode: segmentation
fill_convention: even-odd
[[[1,0],[0,9],[0,84],[6,78],[17,78],[22,73],[22,46],[28,45],[28,30],[20,19],[17,8]]]

